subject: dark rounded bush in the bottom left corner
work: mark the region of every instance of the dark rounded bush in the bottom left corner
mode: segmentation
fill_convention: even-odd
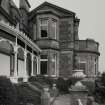
[[[0,104],[16,105],[16,89],[7,77],[0,77]]]

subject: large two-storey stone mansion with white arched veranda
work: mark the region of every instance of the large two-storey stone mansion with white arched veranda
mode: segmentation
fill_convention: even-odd
[[[98,73],[99,43],[80,40],[74,12],[44,2],[30,11],[28,0],[0,0],[0,75],[27,80],[45,75],[69,78],[82,69]]]

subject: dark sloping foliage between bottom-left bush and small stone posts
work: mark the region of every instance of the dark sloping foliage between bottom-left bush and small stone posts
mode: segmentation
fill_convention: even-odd
[[[33,90],[27,83],[15,85],[17,89],[18,105],[40,105],[41,93]]]

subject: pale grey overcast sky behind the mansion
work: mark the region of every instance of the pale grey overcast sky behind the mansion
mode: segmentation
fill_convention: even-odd
[[[14,0],[18,2],[18,0]],[[28,0],[31,10],[45,0]],[[99,71],[105,71],[105,0],[46,0],[76,13],[80,19],[79,38],[92,38],[100,44]]]

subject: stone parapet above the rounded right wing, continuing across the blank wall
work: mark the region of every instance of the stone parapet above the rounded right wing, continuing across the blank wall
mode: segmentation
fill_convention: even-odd
[[[61,49],[75,49],[75,51],[96,52],[99,54],[99,43],[92,40],[76,40],[76,41],[63,41],[60,43]]]

